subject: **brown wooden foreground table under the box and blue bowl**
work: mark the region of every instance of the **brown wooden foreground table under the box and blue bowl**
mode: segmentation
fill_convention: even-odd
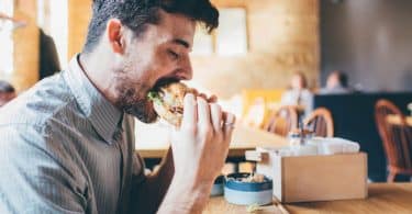
[[[368,189],[369,198],[366,200],[293,203],[283,206],[290,214],[412,213],[412,183],[371,183]],[[264,212],[260,213],[279,213],[274,205],[263,209]],[[246,213],[246,206],[229,204],[223,196],[211,198],[203,213]]]

